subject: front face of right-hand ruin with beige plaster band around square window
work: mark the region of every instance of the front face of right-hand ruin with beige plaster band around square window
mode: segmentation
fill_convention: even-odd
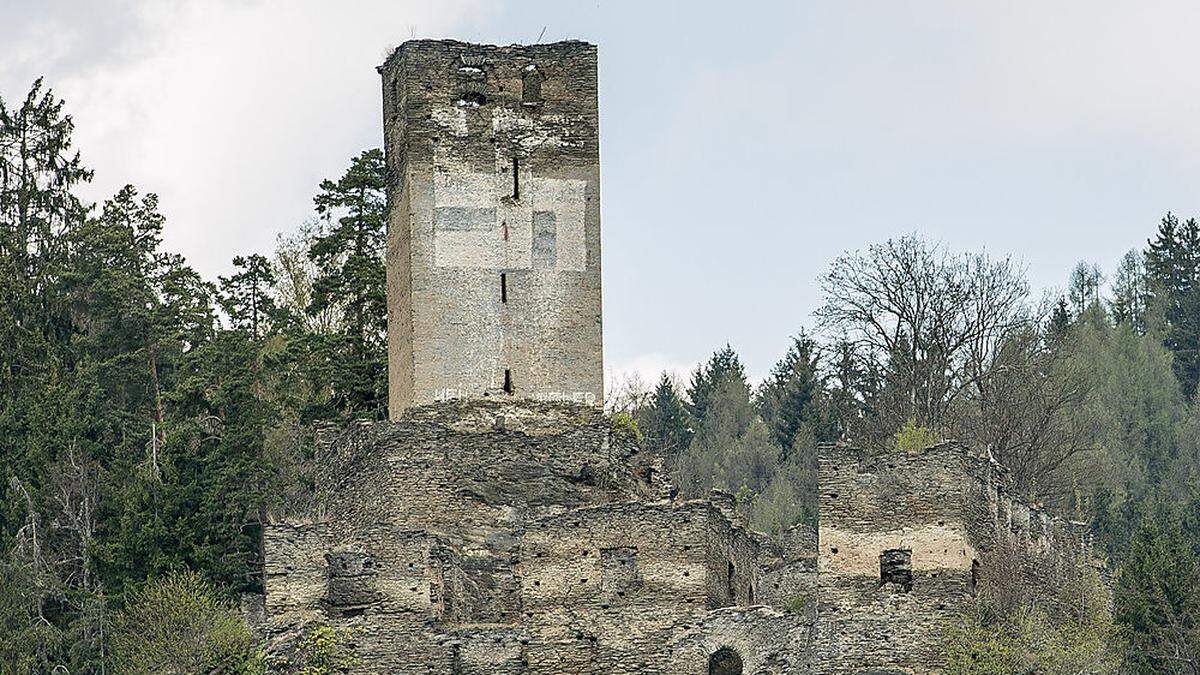
[[[966,472],[954,447],[922,454],[820,453],[818,661],[850,673],[942,663],[940,637],[971,598],[976,551],[964,514]],[[884,575],[887,551],[910,577]],[[888,561],[892,562],[892,561]]]

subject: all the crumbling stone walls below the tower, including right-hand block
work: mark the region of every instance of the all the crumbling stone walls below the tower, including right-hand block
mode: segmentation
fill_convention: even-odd
[[[364,673],[930,673],[985,585],[1052,598],[1094,562],[954,443],[823,448],[821,527],[778,540],[727,494],[662,498],[586,405],[444,401],[323,446],[319,513],[264,532],[264,631],[354,628]]]

